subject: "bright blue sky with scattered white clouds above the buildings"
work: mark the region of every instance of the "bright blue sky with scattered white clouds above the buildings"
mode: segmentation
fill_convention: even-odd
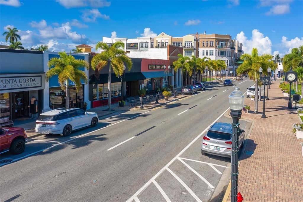
[[[244,51],[280,53],[303,45],[303,1],[0,0],[0,29],[16,27],[26,48],[69,51],[102,36],[135,38],[165,32],[230,34]],[[6,44],[4,36],[0,44]],[[277,52],[278,51],[278,52]]]

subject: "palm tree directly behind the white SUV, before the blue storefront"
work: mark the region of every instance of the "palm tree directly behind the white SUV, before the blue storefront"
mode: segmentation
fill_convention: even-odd
[[[49,70],[45,74],[45,79],[48,82],[50,77],[58,75],[58,83],[61,89],[65,90],[65,108],[69,108],[69,80],[73,81],[76,86],[76,92],[82,86],[81,80],[87,83],[87,76],[81,67],[89,69],[89,63],[82,59],[75,59],[74,56],[65,52],[58,53],[60,57],[53,57],[48,61]]]

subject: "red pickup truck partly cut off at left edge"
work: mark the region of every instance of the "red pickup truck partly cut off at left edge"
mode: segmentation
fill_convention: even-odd
[[[0,154],[8,151],[21,154],[26,142],[27,135],[24,128],[0,128]]]

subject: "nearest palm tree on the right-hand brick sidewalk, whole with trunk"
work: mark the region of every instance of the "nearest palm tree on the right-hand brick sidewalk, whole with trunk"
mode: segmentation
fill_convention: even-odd
[[[272,59],[272,55],[263,54],[258,55],[258,50],[253,48],[251,55],[244,53],[241,55],[241,60],[243,63],[238,67],[237,73],[244,74],[248,72],[250,78],[255,79],[255,113],[258,113],[258,78],[259,78],[259,68],[262,67],[263,73],[267,74],[267,62]],[[261,95],[261,94],[260,94]]]

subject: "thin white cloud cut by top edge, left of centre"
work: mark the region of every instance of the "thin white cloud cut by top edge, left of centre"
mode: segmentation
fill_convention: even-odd
[[[111,2],[106,0],[56,0],[56,2],[64,6],[66,9],[86,6],[102,8],[111,5]]]

